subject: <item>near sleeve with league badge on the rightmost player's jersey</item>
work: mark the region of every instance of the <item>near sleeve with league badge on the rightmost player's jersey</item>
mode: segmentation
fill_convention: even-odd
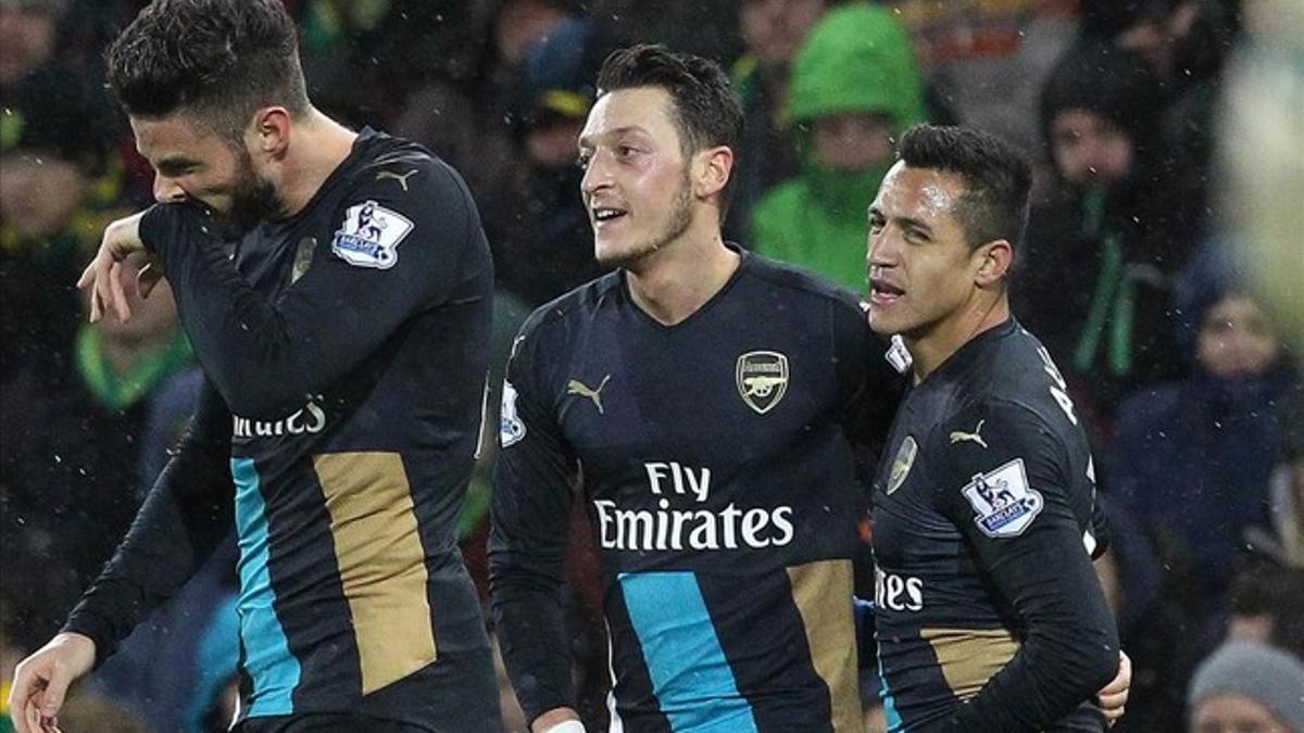
[[[1013,659],[944,730],[1043,730],[1115,674],[1119,640],[1091,567],[1091,497],[1068,447],[1031,410],[985,404],[939,426],[941,511],[1017,618]],[[1085,472],[1084,472],[1085,473]],[[1082,514],[1081,519],[1080,513]]]

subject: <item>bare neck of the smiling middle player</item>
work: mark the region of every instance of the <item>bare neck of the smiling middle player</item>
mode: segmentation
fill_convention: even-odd
[[[696,313],[738,269],[742,258],[725,247],[719,224],[703,228],[626,269],[630,297],[660,323],[673,326]]]

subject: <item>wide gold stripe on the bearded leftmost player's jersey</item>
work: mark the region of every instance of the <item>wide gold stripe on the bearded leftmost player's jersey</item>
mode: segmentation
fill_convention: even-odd
[[[323,454],[313,464],[368,694],[438,656],[412,492],[396,453]]]

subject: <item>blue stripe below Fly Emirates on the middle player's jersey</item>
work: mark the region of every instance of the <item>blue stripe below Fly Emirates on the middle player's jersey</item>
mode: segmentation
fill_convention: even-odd
[[[652,693],[674,733],[756,733],[692,573],[618,575]]]

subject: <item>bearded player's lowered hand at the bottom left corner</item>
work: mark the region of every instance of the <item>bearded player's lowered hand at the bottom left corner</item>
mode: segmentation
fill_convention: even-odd
[[[64,707],[68,686],[94,665],[95,642],[67,631],[20,661],[9,690],[9,716],[17,733],[59,730],[59,710]]]

